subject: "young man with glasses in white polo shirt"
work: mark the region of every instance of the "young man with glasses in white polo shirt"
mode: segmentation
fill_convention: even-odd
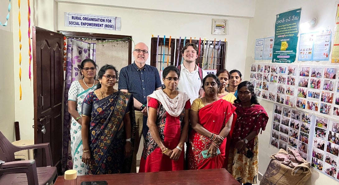
[[[195,60],[198,58],[197,54],[197,45],[194,43],[187,43],[182,48],[182,57],[184,59],[184,62],[180,66],[178,66],[180,70],[180,80],[178,88],[180,91],[185,92],[191,98],[191,104],[195,99],[199,98],[199,91],[202,86],[202,79],[207,75],[206,71],[202,70],[200,67],[197,66],[197,64],[195,64]],[[201,74],[199,74],[199,72]],[[203,91],[201,92],[203,93]]]

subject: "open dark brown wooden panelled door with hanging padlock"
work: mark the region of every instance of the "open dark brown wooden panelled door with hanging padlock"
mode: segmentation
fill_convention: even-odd
[[[34,143],[51,143],[53,165],[61,172],[63,35],[33,26]],[[43,149],[35,150],[45,165]]]

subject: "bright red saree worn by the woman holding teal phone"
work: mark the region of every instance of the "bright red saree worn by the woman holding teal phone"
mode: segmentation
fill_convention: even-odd
[[[228,119],[230,119],[231,115],[233,115],[231,130],[228,134],[229,137],[232,135],[233,127],[237,118],[235,109],[235,106],[233,106],[230,102],[220,99],[210,105],[204,106],[199,109],[199,124],[201,124],[208,131],[219,135],[220,131],[225,127]],[[224,166],[226,166],[227,163],[225,163],[225,158],[226,153],[228,155],[228,149],[227,152],[225,151],[226,146],[228,147],[228,143],[230,142],[230,140],[227,138],[224,139],[219,147],[221,153],[220,155],[214,158],[204,159],[202,157],[201,151],[207,150],[208,147],[210,147],[212,141],[208,137],[202,136],[195,130],[192,130],[189,136],[190,146],[187,146],[188,168],[213,169],[223,168]]]

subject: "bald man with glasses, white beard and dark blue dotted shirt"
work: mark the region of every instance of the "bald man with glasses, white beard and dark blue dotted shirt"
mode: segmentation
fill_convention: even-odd
[[[136,160],[141,134],[145,137],[147,127],[147,96],[154,90],[161,89],[161,80],[157,68],[147,65],[148,47],[138,43],[133,50],[134,63],[120,71],[119,86],[121,91],[133,93],[136,121],[136,136],[131,173],[136,173]]]

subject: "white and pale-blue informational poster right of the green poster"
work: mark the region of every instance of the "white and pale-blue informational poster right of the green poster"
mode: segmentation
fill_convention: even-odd
[[[331,46],[331,30],[300,34],[299,61],[328,60]]]

